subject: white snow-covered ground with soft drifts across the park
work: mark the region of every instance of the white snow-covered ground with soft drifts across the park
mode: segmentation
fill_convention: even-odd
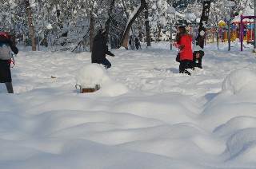
[[[256,54],[232,46],[207,44],[192,76],[168,42],[113,49],[107,70],[19,46],[15,94],[0,84],[0,168],[256,168]],[[88,81],[101,89],[74,87]]]

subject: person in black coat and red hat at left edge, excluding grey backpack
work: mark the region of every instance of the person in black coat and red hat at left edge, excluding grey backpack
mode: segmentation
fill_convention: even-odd
[[[0,33],[0,46],[2,45],[8,45],[14,54],[18,53],[18,48],[10,41],[8,33]],[[10,73],[10,60],[0,59],[0,83],[6,84],[8,93],[14,93]]]

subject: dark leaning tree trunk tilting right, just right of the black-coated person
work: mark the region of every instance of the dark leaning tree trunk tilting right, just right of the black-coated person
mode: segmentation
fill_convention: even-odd
[[[136,12],[136,14],[134,14],[134,16],[132,16],[132,18],[130,18],[130,22],[128,22],[126,29],[122,35],[122,46],[125,47],[126,49],[128,49],[128,40],[129,40],[129,32],[130,32],[130,28],[133,25],[134,21],[136,18],[138,18],[138,15],[141,14],[142,10],[145,8],[146,6],[146,1],[145,0],[141,0],[141,4]]]

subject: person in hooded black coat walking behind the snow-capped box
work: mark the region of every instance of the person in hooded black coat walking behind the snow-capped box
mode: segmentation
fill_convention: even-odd
[[[99,29],[98,34],[94,37],[91,62],[102,64],[106,69],[109,69],[111,67],[111,63],[106,59],[106,54],[114,57],[114,54],[108,49],[106,30]]]

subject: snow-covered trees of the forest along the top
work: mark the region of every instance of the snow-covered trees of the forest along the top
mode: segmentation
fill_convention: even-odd
[[[106,28],[112,49],[126,47],[131,34],[144,42],[150,33],[146,44],[150,46],[151,40],[169,41],[160,37],[170,32],[170,23],[175,27],[200,20],[204,2],[210,2],[209,28],[230,14],[224,0],[9,0],[0,5],[0,31],[12,33],[16,42],[32,46],[34,51],[44,45],[53,51],[89,52],[101,27]],[[253,0],[234,3],[231,18],[254,9]],[[175,8],[175,16],[166,13],[169,6]],[[133,19],[129,36],[123,37]]]

